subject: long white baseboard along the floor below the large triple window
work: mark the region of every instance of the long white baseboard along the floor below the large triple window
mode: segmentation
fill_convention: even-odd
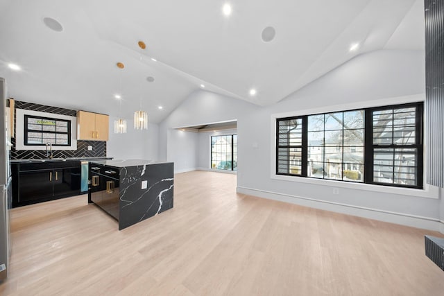
[[[323,209],[326,211],[334,211],[341,214],[380,220],[388,223],[429,229],[444,234],[444,223],[443,221],[440,222],[440,220],[436,218],[415,216],[381,209],[372,209],[368,207],[359,207],[352,204],[341,204],[339,202],[330,202],[327,200],[316,200],[315,198],[305,198],[302,196],[251,189],[243,186],[237,186],[237,192],[257,196],[259,198],[268,198],[270,200],[278,200],[280,202],[289,202],[291,204],[312,207],[315,209]]]

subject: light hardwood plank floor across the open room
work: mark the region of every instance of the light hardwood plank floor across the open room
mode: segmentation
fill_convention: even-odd
[[[424,234],[176,175],[174,208],[117,230],[87,196],[12,210],[0,295],[444,295]]]

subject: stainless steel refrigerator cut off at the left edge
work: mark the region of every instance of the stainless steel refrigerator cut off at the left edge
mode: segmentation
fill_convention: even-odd
[[[9,120],[6,116],[8,99],[6,81],[0,77],[0,281],[8,276],[10,259],[10,218],[12,188],[10,177]]]

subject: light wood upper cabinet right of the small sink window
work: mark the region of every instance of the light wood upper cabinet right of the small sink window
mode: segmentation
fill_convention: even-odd
[[[86,111],[77,112],[77,139],[108,141],[110,119],[108,115]]]

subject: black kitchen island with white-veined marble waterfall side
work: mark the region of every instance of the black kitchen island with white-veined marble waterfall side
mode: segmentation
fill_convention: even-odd
[[[173,162],[89,162],[88,202],[119,221],[119,230],[173,208]]]

